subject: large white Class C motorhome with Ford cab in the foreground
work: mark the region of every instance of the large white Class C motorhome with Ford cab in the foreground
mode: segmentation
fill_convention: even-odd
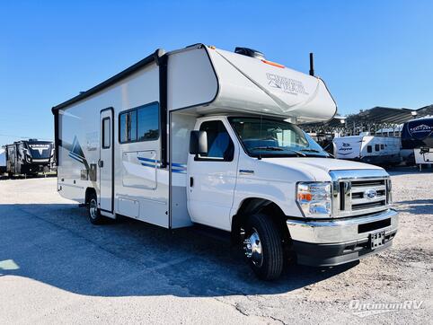
[[[389,175],[332,159],[296,126],[336,113],[323,81],[252,49],[156,50],[52,111],[57,190],[93,224],[221,229],[263,279],[287,254],[338,265],[397,232]]]

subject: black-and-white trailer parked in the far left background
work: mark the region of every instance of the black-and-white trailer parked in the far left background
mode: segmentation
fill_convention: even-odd
[[[54,144],[49,141],[29,139],[4,145],[8,176],[36,175],[48,172],[55,163]]]

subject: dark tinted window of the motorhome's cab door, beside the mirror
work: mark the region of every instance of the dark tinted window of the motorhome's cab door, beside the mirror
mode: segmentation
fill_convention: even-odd
[[[231,162],[234,155],[234,145],[223,122],[209,121],[200,126],[200,131],[208,134],[208,154],[199,155],[199,159]]]

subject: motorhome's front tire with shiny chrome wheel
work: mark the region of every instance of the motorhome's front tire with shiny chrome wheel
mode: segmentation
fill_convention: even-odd
[[[243,249],[257,277],[274,280],[281,275],[284,266],[282,236],[277,224],[268,215],[259,213],[250,216],[245,229]]]

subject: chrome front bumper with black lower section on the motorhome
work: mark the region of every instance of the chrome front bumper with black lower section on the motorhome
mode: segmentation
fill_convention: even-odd
[[[388,209],[374,215],[327,220],[288,219],[287,228],[299,264],[334,266],[361,259],[391,246],[398,214]],[[372,250],[370,233],[384,231],[384,245]]]

